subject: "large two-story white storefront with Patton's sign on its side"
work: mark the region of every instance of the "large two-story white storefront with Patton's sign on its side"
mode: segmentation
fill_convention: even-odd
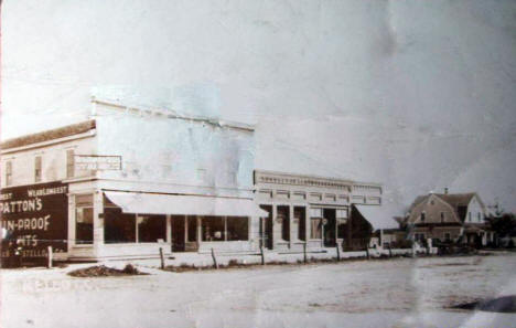
[[[252,126],[94,105],[92,120],[2,142],[1,225],[24,257],[257,250]]]

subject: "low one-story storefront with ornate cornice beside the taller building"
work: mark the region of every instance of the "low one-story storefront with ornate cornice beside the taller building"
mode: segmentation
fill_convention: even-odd
[[[259,170],[254,180],[255,201],[269,214],[259,224],[269,250],[364,250],[376,229],[362,212],[379,209],[380,184]]]

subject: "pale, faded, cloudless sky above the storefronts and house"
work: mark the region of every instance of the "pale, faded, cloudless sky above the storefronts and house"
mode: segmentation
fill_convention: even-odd
[[[393,214],[445,187],[516,211],[515,17],[508,0],[4,0],[1,137],[87,119],[93,94],[198,105],[257,125],[256,168],[380,182]]]

